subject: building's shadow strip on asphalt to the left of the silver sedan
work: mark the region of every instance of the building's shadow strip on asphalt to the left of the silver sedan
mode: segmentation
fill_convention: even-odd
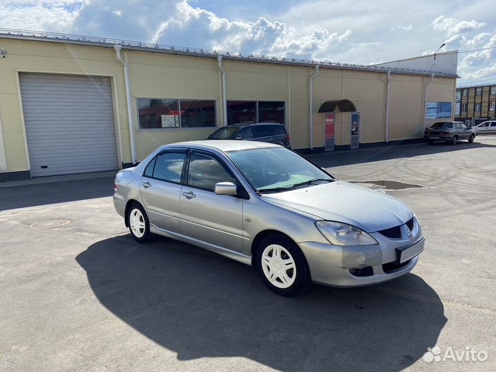
[[[114,178],[107,176],[1,187],[0,211],[112,196]]]

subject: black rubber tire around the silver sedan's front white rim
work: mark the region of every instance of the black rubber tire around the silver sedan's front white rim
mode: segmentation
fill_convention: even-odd
[[[267,276],[265,276],[264,269],[262,268],[262,254],[264,250],[270,245],[280,245],[284,247],[287,251],[289,251],[289,254],[291,254],[291,257],[295,262],[296,278],[294,279],[294,282],[290,287],[276,287],[269,281]],[[255,261],[255,265],[260,278],[262,278],[262,282],[264,282],[264,284],[271,291],[277,293],[280,296],[296,296],[298,293],[306,291],[311,287],[312,281],[307,259],[304,257],[304,254],[301,251],[300,247],[298,247],[298,245],[296,245],[293,240],[287,238],[287,236],[284,236],[282,234],[270,234],[263,238],[256,249]]]

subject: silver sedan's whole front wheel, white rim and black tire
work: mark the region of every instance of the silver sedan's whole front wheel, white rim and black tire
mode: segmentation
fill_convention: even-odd
[[[311,285],[307,260],[287,236],[270,234],[263,238],[255,259],[262,281],[281,296],[295,296]]]

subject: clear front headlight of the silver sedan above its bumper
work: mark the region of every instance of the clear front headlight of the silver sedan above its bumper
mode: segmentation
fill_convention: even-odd
[[[375,245],[377,240],[362,229],[334,221],[317,221],[320,233],[333,245]]]

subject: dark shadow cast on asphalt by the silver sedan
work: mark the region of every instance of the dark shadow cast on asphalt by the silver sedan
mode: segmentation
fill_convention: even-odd
[[[148,245],[129,235],[101,240],[76,261],[107,309],[178,360],[400,371],[435,346],[446,324],[437,293],[413,274],[372,287],[314,286],[285,298],[254,268],[167,238]]]

